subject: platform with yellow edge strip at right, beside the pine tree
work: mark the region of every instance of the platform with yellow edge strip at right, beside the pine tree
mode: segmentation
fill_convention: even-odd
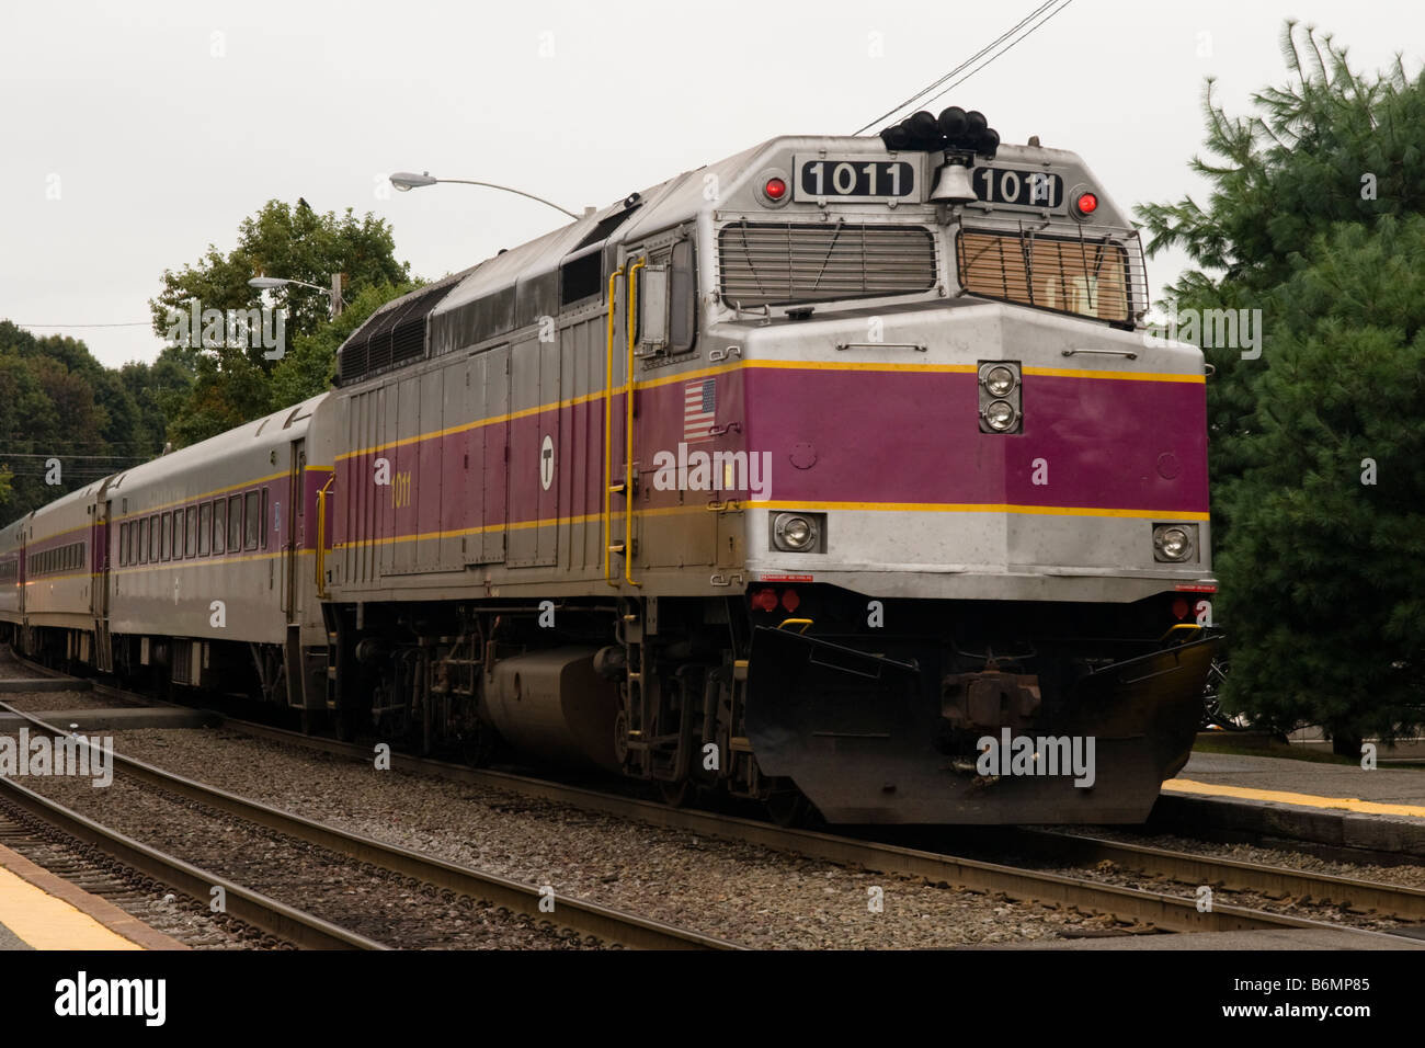
[[[1425,861],[1425,769],[1194,753],[1150,824],[1217,827]]]

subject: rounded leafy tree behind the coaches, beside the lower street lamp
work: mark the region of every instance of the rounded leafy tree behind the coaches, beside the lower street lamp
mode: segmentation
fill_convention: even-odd
[[[299,279],[319,287],[332,274],[345,274],[343,297],[356,299],[366,288],[400,285],[409,265],[395,258],[395,241],[383,220],[318,214],[305,200],[295,207],[268,201],[238,227],[237,247],[224,254],[209,245],[202,261],[180,271],[165,271],[164,289],[150,302],[154,331],[168,338],[175,322],[197,302],[201,309],[248,311],[264,304],[248,281],[256,275]],[[328,297],[312,288],[288,285],[272,294],[274,308],[285,311],[285,349],[318,337],[328,324]],[[269,359],[256,339],[224,339],[204,346],[197,332],[190,344],[175,346],[172,359],[191,371],[192,384],[182,396],[160,398],[168,412],[168,436],[187,445],[241,425],[281,404],[274,399],[272,378],[281,358]],[[286,382],[288,388],[294,384]]]

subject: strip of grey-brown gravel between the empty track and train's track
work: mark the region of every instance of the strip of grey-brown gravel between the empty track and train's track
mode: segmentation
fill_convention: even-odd
[[[115,733],[115,744],[138,760],[352,833],[750,947],[933,948],[1124,930],[1103,915],[697,838],[484,786],[378,771],[232,730],[131,730]]]

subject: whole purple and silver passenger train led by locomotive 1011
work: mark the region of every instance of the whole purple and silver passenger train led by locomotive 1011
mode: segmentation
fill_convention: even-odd
[[[386,304],[0,532],[20,650],[779,820],[1131,823],[1216,640],[1204,362],[978,113],[781,137]]]

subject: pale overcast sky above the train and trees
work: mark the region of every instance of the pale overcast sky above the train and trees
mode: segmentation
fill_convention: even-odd
[[[1036,4],[19,3],[0,0],[0,318],[152,359],[164,268],[229,250],[266,200],[386,218],[426,278],[778,134],[849,134]],[[935,103],[1082,154],[1124,205],[1198,192],[1203,80],[1243,111],[1285,80],[1285,17],[1358,68],[1425,50],[1415,0],[1073,0]],[[1150,262],[1154,288],[1181,257]]]

